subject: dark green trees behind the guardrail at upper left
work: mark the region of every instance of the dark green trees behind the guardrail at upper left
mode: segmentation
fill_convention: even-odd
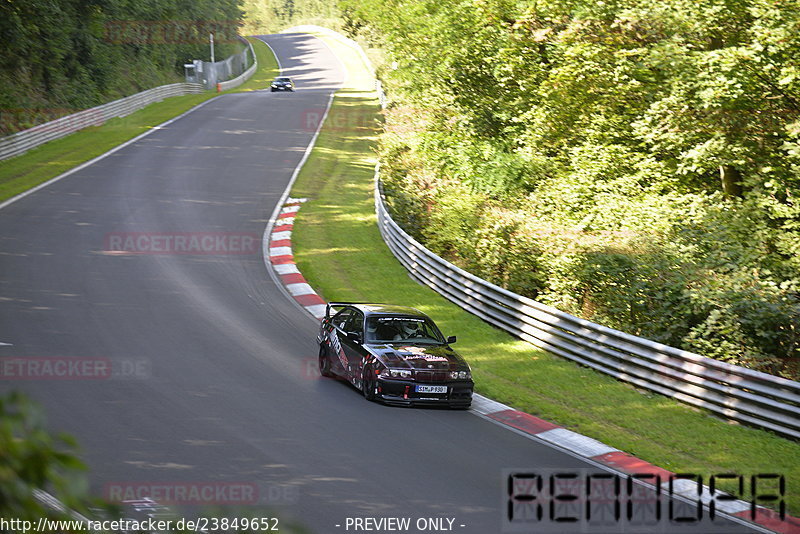
[[[243,48],[239,0],[0,2],[0,135],[158,85]]]

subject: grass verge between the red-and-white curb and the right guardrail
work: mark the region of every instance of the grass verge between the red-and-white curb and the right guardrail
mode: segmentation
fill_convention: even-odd
[[[745,480],[781,473],[788,510],[800,513],[799,443],[731,424],[542,352],[411,280],[376,225],[372,147],[378,106],[371,77],[352,49],[321,37],[349,76],[292,190],[293,197],[309,199],[292,240],[300,270],[326,300],[419,308],[445,335],[458,335],[457,348],[472,366],[479,393],[670,471],[702,474],[705,483],[721,473]]]

